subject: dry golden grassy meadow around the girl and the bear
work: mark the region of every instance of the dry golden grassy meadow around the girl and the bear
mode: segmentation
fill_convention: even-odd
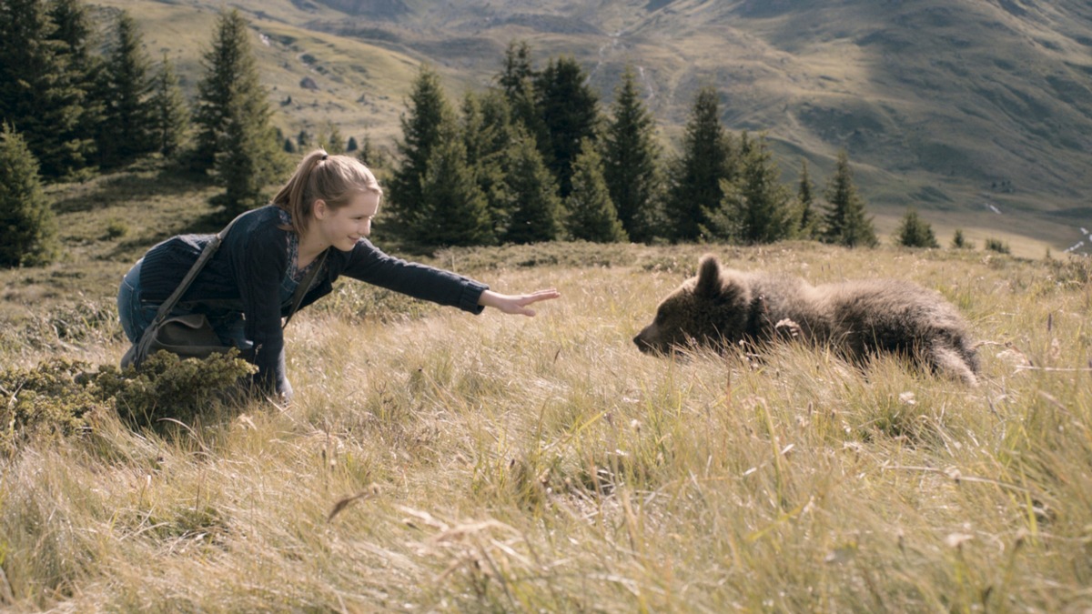
[[[150,165],[54,188],[69,256],[0,272],[3,369],[115,364],[117,282],[155,240],[215,229],[200,186]],[[797,346],[641,355],[631,338],[707,251],[936,288],[982,341],[982,385]],[[475,317],[344,283],[287,329],[287,408],[210,402],[169,429],[97,408],[78,434],[26,438],[0,456],[0,609],[1092,607],[1085,261],[981,243],[425,260],[563,296]]]

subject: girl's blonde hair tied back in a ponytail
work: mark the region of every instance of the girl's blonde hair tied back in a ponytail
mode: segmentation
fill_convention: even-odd
[[[288,182],[273,197],[273,204],[292,215],[292,227],[285,229],[304,236],[314,201],[341,209],[357,194],[367,192],[383,196],[379,181],[364,163],[352,156],[314,150],[304,156]]]

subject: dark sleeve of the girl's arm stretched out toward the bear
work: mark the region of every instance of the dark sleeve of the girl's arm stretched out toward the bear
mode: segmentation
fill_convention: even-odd
[[[471,314],[480,314],[485,309],[478,305],[478,298],[489,288],[482,282],[451,271],[388,256],[367,239],[357,241],[342,274]]]

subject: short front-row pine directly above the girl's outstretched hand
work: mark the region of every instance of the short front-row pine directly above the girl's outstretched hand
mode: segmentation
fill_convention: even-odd
[[[543,163],[533,137],[519,129],[508,152],[508,186],[511,212],[503,243],[539,243],[558,238],[561,232],[561,201],[557,184]]]

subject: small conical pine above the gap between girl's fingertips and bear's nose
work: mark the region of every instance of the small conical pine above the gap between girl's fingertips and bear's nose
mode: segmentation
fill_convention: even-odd
[[[629,240],[603,179],[603,158],[591,139],[584,139],[580,155],[572,163],[572,191],[565,201],[565,209],[566,231],[573,239],[593,243]]]

